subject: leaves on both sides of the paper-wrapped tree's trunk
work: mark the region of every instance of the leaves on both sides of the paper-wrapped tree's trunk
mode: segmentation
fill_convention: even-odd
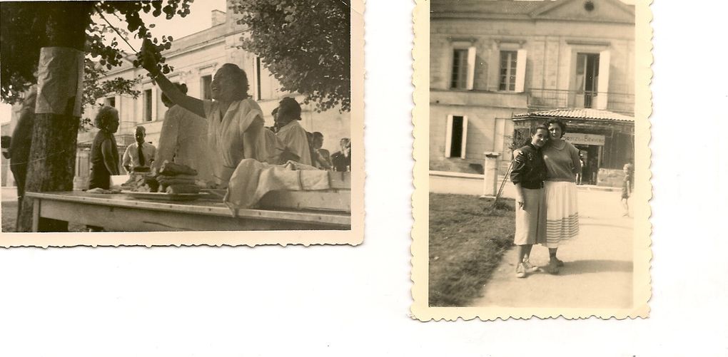
[[[98,64],[107,70],[119,66],[124,60],[124,52],[119,49],[119,43],[112,39],[109,44],[106,41],[108,33],[116,33],[119,38],[125,39],[130,33],[139,39],[151,39],[155,44],[159,61],[159,70],[163,73],[170,73],[172,68],[164,64],[161,57],[163,49],[170,49],[173,38],[162,36],[161,41],[152,36],[150,28],[154,25],[146,25],[140,13],[149,13],[154,17],[165,15],[170,20],[175,15],[186,17],[189,15],[189,6],[193,0],[166,0],[166,1],[88,1],[88,14],[79,15],[79,20],[90,19],[86,30],[86,46],[84,50],[93,58],[98,59]],[[6,103],[15,103],[22,97],[25,89],[35,84],[35,72],[38,68],[38,59],[41,47],[47,46],[48,36],[47,21],[55,7],[63,6],[63,3],[48,1],[18,1],[1,3],[0,37],[2,53],[2,66],[0,67],[0,92],[2,100]],[[127,24],[126,30],[115,29],[106,23],[96,23],[92,14],[97,14],[102,19],[107,16],[114,16]],[[128,32],[127,32],[128,31]],[[134,61],[138,65],[138,61]],[[88,71],[91,67],[86,64]],[[92,66],[92,71],[100,71],[100,68]],[[92,74],[84,78],[84,85],[90,85],[89,92],[84,92],[84,103],[92,95],[99,95],[103,91],[118,92],[133,95],[128,89],[132,82],[123,79],[115,79],[98,84],[93,81],[98,76]],[[89,80],[92,80],[89,82]],[[108,93],[105,92],[104,94]]]

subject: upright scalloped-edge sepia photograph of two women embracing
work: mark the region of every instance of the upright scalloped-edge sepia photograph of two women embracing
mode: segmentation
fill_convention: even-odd
[[[414,21],[414,316],[646,317],[646,1],[419,1]]]

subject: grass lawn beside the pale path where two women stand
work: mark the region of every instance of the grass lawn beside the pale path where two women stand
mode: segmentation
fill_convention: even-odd
[[[492,202],[430,193],[430,306],[467,305],[513,246],[514,201],[488,212]]]

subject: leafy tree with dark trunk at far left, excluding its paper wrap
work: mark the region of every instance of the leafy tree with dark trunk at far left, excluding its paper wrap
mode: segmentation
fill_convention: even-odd
[[[39,70],[39,55],[43,47],[63,47],[86,52],[98,58],[98,64],[111,69],[121,65],[124,52],[118,41],[107,44],[105,33],[114,31],[126,41],[119,29],[95,23],[92,15],[113,15],[127,24],[126,31],[139,39],[151,39],[160,57],[159,70],[168,73],[171,68],[164,64],[162,49],[171,47],[172,38],[163,36],[162,41],[152,36],[139,15],[150,13],[154,17],[165,15],[167,20],[190,13],[191,0],[167,1],[2,1],[0,2],[0,94],[7,103],[14,103],[33,84]],[[135,61],[138,64],[138,60]],[[84,61],[84,67],[87,63]],[[99,69],[93,67],[92,71]],[[50,70],[53,78],[64,78],[62,73]],[[88,71],[88,68],[87,68]],[[87,73],[95,76],[93,73]],[[55,77],[54,77],[55,76]],[[89,77],[85,77],[89,79]],[[98,77],[96,77],[98,80]],[[92,78],[93,80],[93,78]],[[86,82],[86,81],[84,81]],[[89,98],[101,91],[116,87],[122,91],[129,82],[106,81],[88,92]],[[68,84],[76,86],[76,84]],[[82,85],[82,84],[79,84]],[[86,93],[84,93],[85,97]],[[64,98],[65,99],[65,98]],[[95,99],[95,98],[94,98]],[[90,99],[87,99],[90,100]],[[73,113],[36,113],[33,119],[31,153],[28,165],[27,192],[68,191],[73,189],[76,163],[76,136],[80,120]],[[19,230],[28,231],[32,223],[32,203],[23,201]],[[41,231],[63,231],[68,222],[39,220]]]

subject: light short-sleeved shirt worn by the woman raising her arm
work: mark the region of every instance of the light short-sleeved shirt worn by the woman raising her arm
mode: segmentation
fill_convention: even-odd
[[[264,127],[258,103],[250,98],[238,100],[230,104],[224,116],[219,102],[203,100],[202,103],[208,122],[207,140],[215,153],[213,172],[219,184],[226,184],[242,159],[278,163],[283,148]]]

